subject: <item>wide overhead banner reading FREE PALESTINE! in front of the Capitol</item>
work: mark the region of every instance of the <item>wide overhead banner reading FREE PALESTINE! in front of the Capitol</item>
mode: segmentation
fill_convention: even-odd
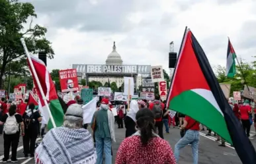
[[[73,65],[77,72],[86,74],[149,74],[150,65]]]

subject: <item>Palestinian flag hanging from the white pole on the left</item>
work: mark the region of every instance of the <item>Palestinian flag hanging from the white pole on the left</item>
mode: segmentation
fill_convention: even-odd
[[[48,113],[47,106],[44,103],[43,96],[40,93],[39,87],[42,87],[44,92],[44,96],[46,96],[46,100],[48,101],[48,105],[50,107],[50,112],[54,119],[56,126],[62,126],[64,122],[64,112],[62,110],[62,106],[60,105],[60,101],[58,99],[58,94],[55,89],[54,82],[50,76],[50,73],[46,69],[46,65],[43,61],[38,59],[37,57],[33,57],[30,55],[30,59],[32,61],[32,65],[34,65],[34,69],[36,70],[36,74],[38,76],[39,83],[36,82],[35,76],[33,74],[30,63],[28,62],[28,67],[30,68],[30,72],[33,77],[34,85],[36,90],[38,91],[38,102],[40,102],[40,111],[45,121],[48,123],[48,129],[53,128],[52,121],[50,118],[50,113]]]

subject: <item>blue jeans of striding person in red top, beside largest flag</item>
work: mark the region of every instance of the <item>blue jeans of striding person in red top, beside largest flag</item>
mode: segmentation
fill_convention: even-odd
[[[184,148],[188,144],[191,144],[193,164],[198,163],[198,144],[199,144],[199,131],[198,130],[187,130],[185,136],[175,144],[174,155],[178,163],[179,161],[179,150]]]

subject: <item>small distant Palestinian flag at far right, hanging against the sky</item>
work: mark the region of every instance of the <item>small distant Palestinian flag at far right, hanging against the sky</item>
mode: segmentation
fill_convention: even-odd
[[[227,64],[226,64],[226,76],[229,78],[234,78],[235,76],[235,51],[234,48],[230,42],[230,39],[228,39],[228,54],[227,54]]]

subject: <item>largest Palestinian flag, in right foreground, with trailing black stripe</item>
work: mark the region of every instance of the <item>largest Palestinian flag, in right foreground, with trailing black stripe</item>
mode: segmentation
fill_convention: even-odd
[[[232,144],[243,163],[255,164],[255,150],[190,30],[185,33],[167,105],[204,124]]]

